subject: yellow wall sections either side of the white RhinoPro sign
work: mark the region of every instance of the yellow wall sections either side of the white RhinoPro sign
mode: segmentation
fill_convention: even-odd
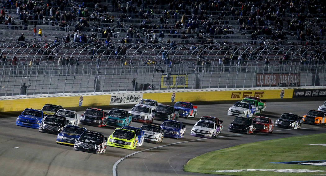
[[[284,91],[284,94],[281,94]],[[140,93],[138,93],[140,94]],[[143,93],[143,98],[155,99],[160,103],[176,101],[241,100],[244,96],[259,96],[262,99],[292,98],[293,89],[284,90],[235,90],[235,91],[192,91],[192,92]],[[174,97],[174,100],[173,100]],[[82,107],[110,105],[111,95],[83,95]],[[57,96],[0,100],[0,112],[20,111],[25,108],[41,109],[44,104],[58,104],[64,108],[79,107],[81,96]]]

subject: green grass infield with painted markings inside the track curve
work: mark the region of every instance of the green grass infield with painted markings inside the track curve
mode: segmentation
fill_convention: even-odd
[[[315,145],[309,145],[315,144]],[[324,144],[324,145],[316,145]],[[188,172],[243,176],[326,175],[324,166],[273,162],[326,160],[326,134],[265,140],[216,150],[187,162]]]

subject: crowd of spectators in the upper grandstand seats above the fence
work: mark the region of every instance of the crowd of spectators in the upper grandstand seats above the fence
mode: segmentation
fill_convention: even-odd
[[[44,36],[38,26],[60,26],[68,34],[55,36],[54,42],[102,42],[107,48],[114,43],[137,42],[167,43],[170,48],[178,43],[228,44],[232,35],[250,38],[249,43],[245,40],[248,44],[291,41],[291,45],[320,45],[326,32],[323,0],[3,0],[1,3],[0,24],[8,29],[17,29],[13,27],[17,25],[16,19],[10,15],[17,14],[24,29],[33,30],[35,40],[38,36],[38,41],[42,41]],[[26,39],[22,35],[18,40]]]

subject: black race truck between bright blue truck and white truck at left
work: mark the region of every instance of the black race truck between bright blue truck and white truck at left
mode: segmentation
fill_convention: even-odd
[[[49,114],[41,122],[39,131],[45,133],[60,133],[68,125],[66,117]]]

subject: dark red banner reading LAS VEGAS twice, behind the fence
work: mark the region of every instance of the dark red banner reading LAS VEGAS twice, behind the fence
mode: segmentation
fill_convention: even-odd
[[[300,73],[257,73],[257,86],[300,85]]]

